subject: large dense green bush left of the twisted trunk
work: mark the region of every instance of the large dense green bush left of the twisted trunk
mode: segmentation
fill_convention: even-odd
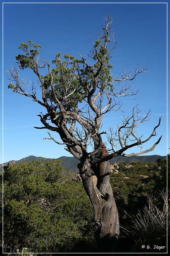
[[[4,252],[72,252],[84,236],[89,239],[91,208],[82,184],[68,180],[61,161],[8,165]]]

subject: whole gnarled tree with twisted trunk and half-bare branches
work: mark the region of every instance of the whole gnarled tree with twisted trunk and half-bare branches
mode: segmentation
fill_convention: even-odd
[[[102,33],[98,33],[99,39],[93,43],[93,48],[87,55],[89,64],[83,56],[74,58],[68,53],[64,60],[61,53],[56,54],[55,60],[50,62],[43,59],[40,62],[38,44],[31,40],[28,44],[21,43],[19,49],[22,55],[17,55],[17,66],[8,70],[9,85],[14,92],[32,98],[33,101],[44,107],[45,112],[40,113],[42,127],[37,129],[48,129],[60,135],[61,142],[48,132],[49,138],[59,145],[65,145],[65,149],[79,160],[78,169],[85,191],[90,198],[94,217],[92,225],[99,252],[114,252],[115,244],[119,236],[118,212],[109,183],[109,160],[115,156],[137,156],[152,151],[159,140],[152,148],[140,150],[139,153],[125,154],[124,152],[132,147],[142,145],[156,135],[156,128],[151,135],[142,140],[136,129],[139,124],[149,120],[149,113],[145,117],[139,116],[138,107],[134,107],[131,116],[123,116],[123,123],[114,132],[110,128],[107,136],[110,149],[105,146],[101,132],[103,116],[108,112],[120,110],[120,97],[136,95],[132,90],[135,77],[144,73],[146,69],[139,69],[126,74],[122,69],[120,78],[113,78],[110,64],[111,52],[116,46],[109,48],[109,44],[115,41],[110,24],[112,18],[105,18],[105,25],[102,26]],[[20,79],[20,70],[30,68],[37,76],[37,84],[28,86],[25,79]],[[45,76],[41,75],[42,69],[48,70]],[[122,82],[122,86],[120,83]],[[124,82],[127,84],[124,86]],[[28,90],[28,88],[31,90]],[[38,88],[38,89],[37,89]],[[30,92],[29,92],[30,91]],[[97,185],[94,184],[92,171],[97,177]]]

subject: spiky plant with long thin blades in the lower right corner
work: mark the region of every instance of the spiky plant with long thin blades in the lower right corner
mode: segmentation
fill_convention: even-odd
[[[170,227],[167,193],[164,190],[160,191],[164,202],[162,209],[153,203],[152,195],[146,193],[145,196],[148,205],[145,205],[144,210],[139,211],[136,216],[129,216],[133,225],[122,229],[134,241],[132,252],[166,252],[167,229]]]

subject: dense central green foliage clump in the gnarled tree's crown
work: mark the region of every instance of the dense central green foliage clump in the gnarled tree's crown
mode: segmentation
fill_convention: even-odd
[[[75,73],[78,63],[77,59],[74,56],[70,56],[69,53],[64,55],[64,60],[61,60],[61,56],[60,52],[57,53],[55,60],[52,61],[56,66],[52,69],[53,86],[59,101],[63,100],[66,93],[69,95],[63,104],[65,110],[68,111],[76,108],[78,102],[82,102],[84,90],[79,84],[78,74]],[[47,74],[44,76],[43,83],[44,88],[46,88],[46,97],[55,102],[50,82],[51,77]]]

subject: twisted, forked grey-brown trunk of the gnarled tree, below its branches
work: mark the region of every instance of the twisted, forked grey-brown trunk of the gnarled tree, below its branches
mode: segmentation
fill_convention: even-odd
[[[107,154],[103,145],[98,156]],[[94,210],[92,226],[99,252],[115,252],[119,236],[119,218],[112,187],[109,183],[109,161],[91,164],[88,158],[81,159],[78,165],[83,186]],[[95,185],[91,170],[97,177]]]

